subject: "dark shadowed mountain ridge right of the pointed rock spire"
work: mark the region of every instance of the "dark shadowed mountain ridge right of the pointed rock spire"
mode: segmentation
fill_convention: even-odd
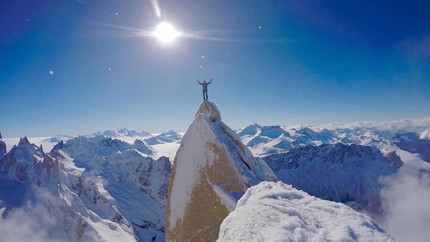
[[[323,144],[264,157],[278,179],[313,196],[336,202],[354,201],[377,209],[380,177],[397,172],[403,162],[395,152],[375,147]]]

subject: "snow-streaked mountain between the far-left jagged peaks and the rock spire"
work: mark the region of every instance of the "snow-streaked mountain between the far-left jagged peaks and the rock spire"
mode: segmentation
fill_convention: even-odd
[[[134,145],[104,136],[79,136],[53,150],[68,172],[69,188],[97,214],[116,209],[131,224],[137,240],[164,241],[168,158],[157,160]],[[143,146],[146,147],[146,146]]]

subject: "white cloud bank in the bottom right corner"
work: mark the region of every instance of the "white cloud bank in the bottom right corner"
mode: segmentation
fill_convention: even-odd
[[[381,180],[382,227],[399,242],[430,241],[430,175],[411,167]]]

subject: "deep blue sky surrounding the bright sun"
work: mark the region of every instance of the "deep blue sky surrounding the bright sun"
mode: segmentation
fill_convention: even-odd
[[[429,1],[0,0],[3,137],[430,116]],[[53,74],[50,74],[53,71]]]

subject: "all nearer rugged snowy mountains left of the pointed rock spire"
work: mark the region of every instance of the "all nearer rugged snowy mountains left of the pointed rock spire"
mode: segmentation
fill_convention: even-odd
[[[26,214],[47,233],[36,241],[162,241],[171,163],[137,143],[79,136],[45,153],[21,139],[0,161],[2,216]],[[41,212],[52,221],[37,223]]]

